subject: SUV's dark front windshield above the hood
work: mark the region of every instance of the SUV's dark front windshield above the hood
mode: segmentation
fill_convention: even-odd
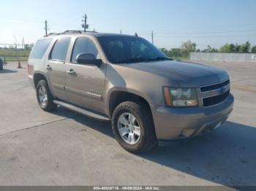
[[[150,42],[136,36],[99,36],[108,61],[111,63],[135,63],[163,61],[167,56]]]

